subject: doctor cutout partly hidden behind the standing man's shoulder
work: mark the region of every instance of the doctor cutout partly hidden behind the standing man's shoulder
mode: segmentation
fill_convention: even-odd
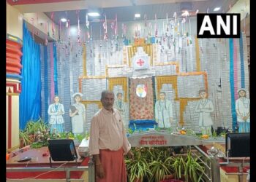
[[[125,103],[122,98],[123,94],[121,92],[118,92],[116,94],[117,100],[115,100],[113,107],[116,108],[121,113],[121,119],[124,124],[124,128],[129,128],[129,111],[127,103]]]

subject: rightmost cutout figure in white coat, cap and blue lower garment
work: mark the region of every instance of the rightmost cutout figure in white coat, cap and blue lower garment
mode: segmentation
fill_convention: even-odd
[[[246,90],[238,90],[239,98],[236,100],[236,115],[238,122],[238,132],[250,132],[250,100],[246,98]]]

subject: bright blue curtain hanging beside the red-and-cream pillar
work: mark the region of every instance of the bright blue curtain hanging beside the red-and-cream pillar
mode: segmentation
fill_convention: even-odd
[[[29,120],[41,116],[40,46],[23,21],[23,56],[21,58],[20,129]]]

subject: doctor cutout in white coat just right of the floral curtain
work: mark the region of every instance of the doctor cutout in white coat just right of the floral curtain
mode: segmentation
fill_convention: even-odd
[[[160,128],[170,128],[173,122],[173,104],[165,99],[165,92],[159,93],[159,100],[155,104],[156,122]]]

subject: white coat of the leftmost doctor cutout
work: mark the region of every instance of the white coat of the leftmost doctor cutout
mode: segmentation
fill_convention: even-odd
[[[57,108],[57,109],[56,109]],[[61,103],[50,104],[48,107],[48,114],[50,115],[49,124],[62,124],[64,123],[63,114],[65,114],[64,106]]]

